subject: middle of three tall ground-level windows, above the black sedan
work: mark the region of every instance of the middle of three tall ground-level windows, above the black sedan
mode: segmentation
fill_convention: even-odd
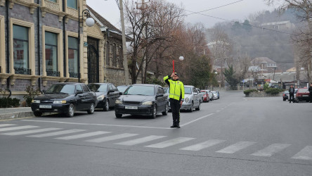
[[[46,75],[59,77],[58,72],[58,34],[45,32]]]

